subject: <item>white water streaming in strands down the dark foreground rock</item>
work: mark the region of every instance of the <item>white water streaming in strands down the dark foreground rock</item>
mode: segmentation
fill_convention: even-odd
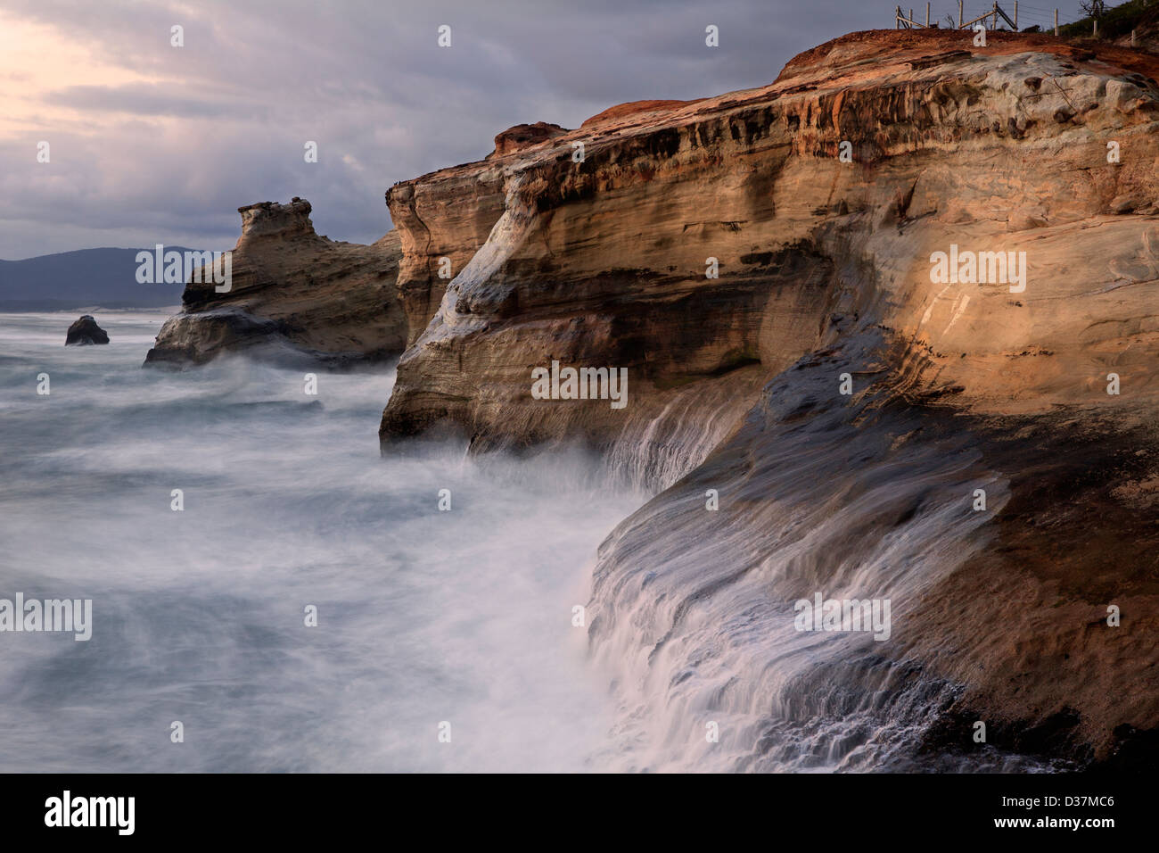
[[[923,593],[986,545],[964,496],[985,487],[992,509],[1005,503],[968,435],[941,425],[940,438],[914,438],[939,431],[936,414],[881,395],[834,403],[831,377],[847,367],[818,359],[786,373],[735,442],[602,545],[591,642],[621,708],[618,767],[1040,766],[997,751],[923,757],[954,687],[872,632],[795,627],[794,602],[816,593],[889,600],[896,643]]]

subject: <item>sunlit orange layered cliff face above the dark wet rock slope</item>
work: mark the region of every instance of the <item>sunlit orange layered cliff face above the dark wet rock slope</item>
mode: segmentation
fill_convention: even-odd
[[[971,409],[1047,411],[1076,379],[1106,403],[1111,362],[1159,389],[1139,345],[1154,324],[1131,319],[1159,308],[1159,102],[1139,57],[854,34],[764,88],[613,108],[396,185],[410,327],[435,317],[384,438],[450,420],[484,443],[613,442],[708,386],[746,409],[749,375],[841,323],[884,326],[916,393]],[[939,275],[938,252],[982,269]],[[627,368],[632,404],[533,399],[552,360]]]

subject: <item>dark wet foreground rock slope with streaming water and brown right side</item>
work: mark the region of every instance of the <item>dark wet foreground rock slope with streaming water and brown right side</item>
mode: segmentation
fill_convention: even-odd
[[[1124,460],[1153,435],[1074,435],[1073,421],[1034,418],[996,428],[914,405],[883,369],[891,349],[867,330],[803,359],[603,543],[590,639],[620,709],[612,766],[1150,760],[1147,737],[1116,721],[1154,711],[1153,637],[1134,627],[1124,656],[1107,608],[1086,602],[1131,601],[1147,619],[1152,581],[1135,566],[1154,563],[1151,522],[1106,496],[1149,470]],[[832,392],[845,374],[859,382],[848,397]],[[1110,540],[1084,526],[1093,505]],[[1114,576],[1109,592],[1092,565]],[[815,597],[888,601],[887,636],[800,630],[795,603]],[[1059,684],[1072,671],[1081,679]],[[1138,692],[1114,691],[1124,675]]]

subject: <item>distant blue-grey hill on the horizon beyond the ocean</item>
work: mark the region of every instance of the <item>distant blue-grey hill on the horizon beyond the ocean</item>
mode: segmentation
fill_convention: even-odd
[[[185,252],[183,246],[166,250]],[[0,311],[165,308],[181,304],[184,284],[139,284],[138,248],[82,248],[0,261]]]

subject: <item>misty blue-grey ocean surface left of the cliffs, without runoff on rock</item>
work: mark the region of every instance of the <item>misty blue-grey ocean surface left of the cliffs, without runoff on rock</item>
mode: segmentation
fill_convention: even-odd
[[[0,315],[0,598],[93,601],[88,642],[0,632],[0,772],[606,766],[573,607],[644,496],[578,454],[380,457],[393,369],[141,369],[166,312],[96,317],[66,348],[75,315]]]

